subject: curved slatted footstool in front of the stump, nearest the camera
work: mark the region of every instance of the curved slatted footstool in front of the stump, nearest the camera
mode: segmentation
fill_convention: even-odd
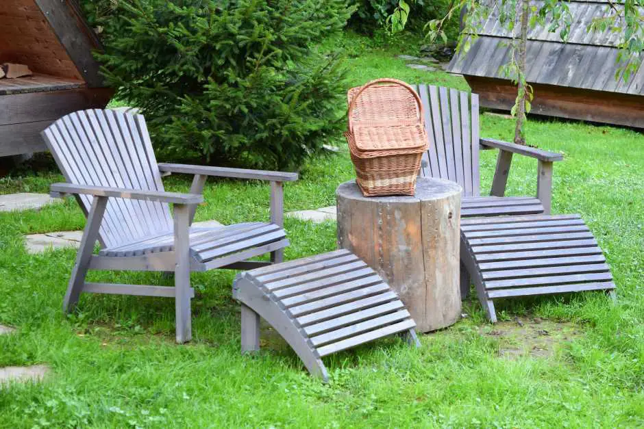
[[[243,352],[258,350],[261,316],[325,381],[328,354],[397,333],[420,345],[397,294],[347,250],[238,274],[233,296],[242,304]]]

